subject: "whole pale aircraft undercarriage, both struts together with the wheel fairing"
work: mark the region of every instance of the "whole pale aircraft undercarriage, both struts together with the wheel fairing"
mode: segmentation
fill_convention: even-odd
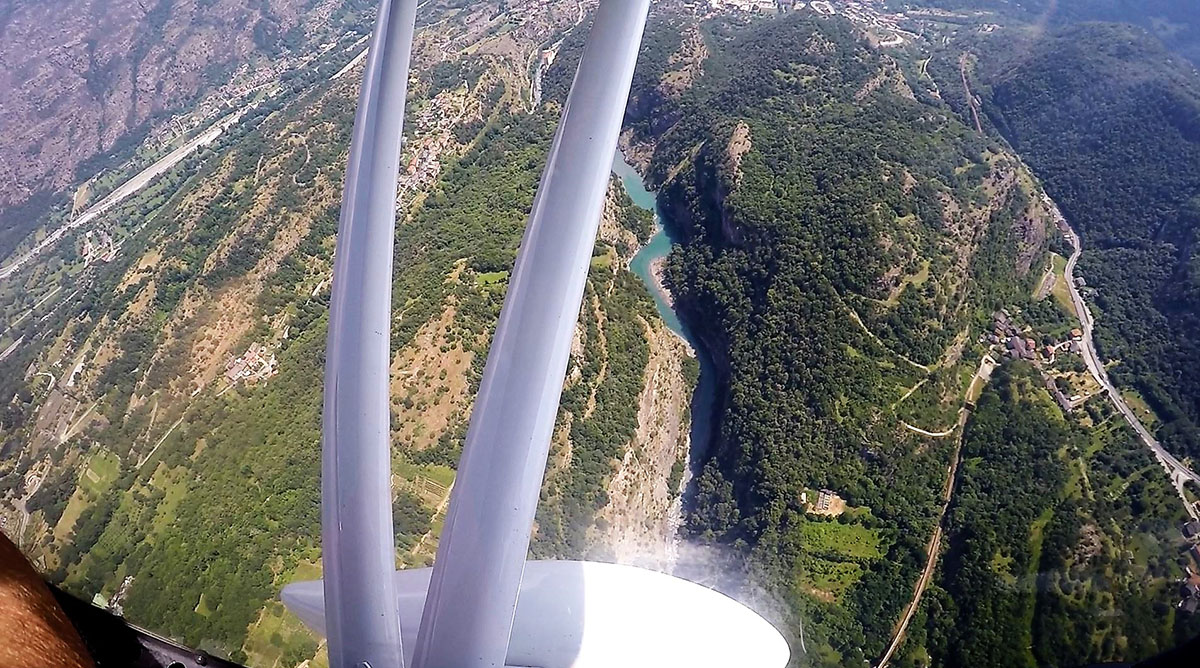
[[[534,198],[432,570],[395,571],[389,367],[416,0],[382,0],[347,167],[322,429],[324,580],[283,601],[332,668],[781,668],[762,618],[631,566],[526,561],[649,0],[601,0]],[[406,661],[407,660],[407,661]],[[683,663],[679,663],[679,662]]]

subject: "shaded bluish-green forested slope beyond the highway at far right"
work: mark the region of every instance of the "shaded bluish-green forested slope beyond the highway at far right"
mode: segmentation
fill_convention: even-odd
[[[1200,73],[1124,26],[1009,38],[978,48],[984,112],[1082,235],[1114,378],[1151,402],[1168,447],[1198,456]]]

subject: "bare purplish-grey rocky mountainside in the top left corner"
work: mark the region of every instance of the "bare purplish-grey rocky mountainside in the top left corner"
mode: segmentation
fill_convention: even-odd
[[[0,10],[0,211],[71,185],[85,161],[212,89],[252,88],[252,56],[299,46],[355,4],[12,0]]]

